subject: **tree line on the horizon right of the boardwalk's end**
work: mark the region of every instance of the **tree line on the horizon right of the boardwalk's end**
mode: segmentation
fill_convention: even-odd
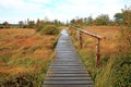
[[[92,16],[73,18],[70,21],[72,25],[131,25],[131,8],[122,9],[121,12],[114,15],[110,20],[108,14],[100,14],[96,18]]]

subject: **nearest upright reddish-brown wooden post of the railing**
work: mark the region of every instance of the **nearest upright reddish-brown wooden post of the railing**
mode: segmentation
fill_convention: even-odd
[[[100,39],[97,38],[96,41],[96,67],[99,67],[100,64]]]

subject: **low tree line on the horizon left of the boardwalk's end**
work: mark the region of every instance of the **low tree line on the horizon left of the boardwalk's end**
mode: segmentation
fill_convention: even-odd
[[[62,22],[58,21],[58,20],[53,20],[53,21],[48,21],[48,20],[39,20],[37,18],[37,21],[33,21],[27,18],[27,21],[20,21],[17,24],[10,24],[9,22],[3,22],[2,24],[0,24],[0,28],[11,28],[11,27],[16,27],[16,28],[39,28],[43,25],[56,25],[56,26],[61,26],[63,25]]]

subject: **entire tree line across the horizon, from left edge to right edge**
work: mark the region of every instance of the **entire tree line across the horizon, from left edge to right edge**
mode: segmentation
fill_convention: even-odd
[[[110,20],[108,14],[100,14],[97,17],[93,18],[92,16],[87,17],[76,17],[72,18],[70,22],[67,21],[67,23],[62,23],[58,20],[49,21],[48,17],[45,20],[37,21],[31,21],[27,18],[27,21],[23,22],[20,21],[16,25],[11,25],[9,22],[3,22],[0,24],[0,28],[10,28],[10,27],[20,27],[20,28],[38,28],[43,25],[52,24],[56,26],[61,25],[80,25],[80,26],[91,26],[91,25],[131,25],[131,8],[124,8],[121,10],[120,13],[115,13],[114,20]]]

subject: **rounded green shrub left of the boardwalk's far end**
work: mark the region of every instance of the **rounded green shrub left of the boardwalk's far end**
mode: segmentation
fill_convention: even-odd
[[[47,25],[45,28],[43,28],[41,34],[45,35],[58,35],[59,28],[55,25]]]

